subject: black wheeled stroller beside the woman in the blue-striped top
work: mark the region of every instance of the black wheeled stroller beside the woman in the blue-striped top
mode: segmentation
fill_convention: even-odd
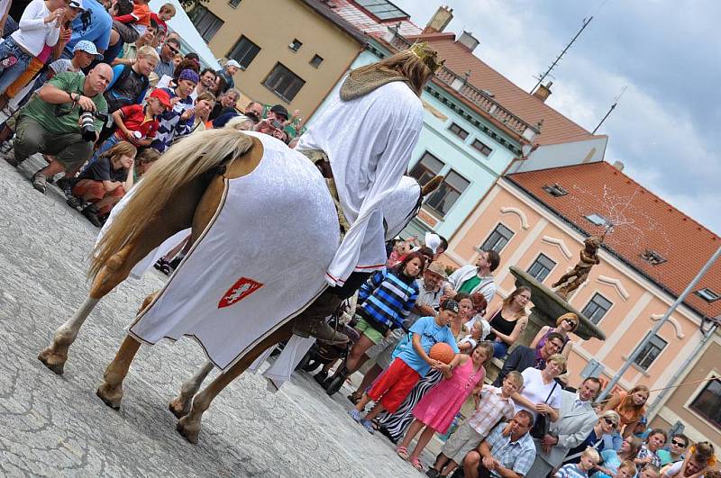
[[[360,338],[358,331],[353,329],[350,325],[352,320],[349,323],[343,322],[342,309],[340,311],[341,313],[333,314],[329,325],[348,336],[349,341],[344,344],[333,345],[318,339],[315,341],[315,344],[310,347],[310,350],[308,350],[306,355],[301,359],[300,363],[296,367],[296,370],[313,372],[319,366],[322,366],[323,368],[321,368],[321,370],[315,374],[313,378],[315,379],[315,382],[325,389],[325,392],[328,393],[328,395],[333,395],[333,393],[341,390],[343,381],[345,380],[345,374],[340,374],[335,378],[328,377],[327,371],[324,370],[325,366],[335,363],[338,359],[345,360],[348,353],[351,351],[353,344],[355,344]]]

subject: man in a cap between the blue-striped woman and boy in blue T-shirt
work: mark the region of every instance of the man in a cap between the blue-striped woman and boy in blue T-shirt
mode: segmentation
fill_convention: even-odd
[[[416,279],[418,283],[418,299],[415,301],[413,309],[403,320],[403,326],[405,329],[415,324],[415,320],[421,317],[434,316],[440,305],[441,301],[441,284],[446,279],[445,267],[440,262],[432,262],[430,266],[426,267],[423,273],[423,278]],[[348,400],[356,403],[363,396],[370,383],[378,378],[379,374],[384,369],[388,368],[388,365],[393,361],[391,355],[396,349],[400,338],[406,334],[404,329],[394,329],[388,334],[387,338],[381,340],[377,345],[370,347],[365,353],[365,358],[361,357],[360,365],[362,365],[368,358],[375,359],[376,364],[370,367],[368,372],[363,375],[363,381],[355,392],[348,395]],[[359,365],[359,366],[360,366]],[[320,381],[324,377],[319,374],[324,374],[324,371],[319,372],[315,375],[315,379]],[[327,374],[326,374],[327,376]]]

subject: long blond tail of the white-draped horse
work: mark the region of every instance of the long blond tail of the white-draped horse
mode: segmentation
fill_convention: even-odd
[[[132,197],[114,216],[96,243],[88,276],[94,278],[107,261],[137,240],[168,207],[178,188],[215,167],[227,166],[252,146],[250,136],[237,130],[203,131],[170,147],[133,186]]]

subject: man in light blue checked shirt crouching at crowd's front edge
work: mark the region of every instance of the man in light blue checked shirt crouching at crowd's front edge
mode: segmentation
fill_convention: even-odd
[[[528,431],[534,426],[534,416],[518,410],[508,423],[501,422],[479,447],[463,459],[466,478],[521,478],[528,476],[534,464],[534,439]]]

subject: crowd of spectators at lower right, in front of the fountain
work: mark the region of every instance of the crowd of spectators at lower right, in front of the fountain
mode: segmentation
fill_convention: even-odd
[[[694,445],[682,433],[647,429],[645,386],[597,403],[604,385],[598,378],[569,383],[578,316],[564,314],[529,346],[518,343],[531,290],[517,287],[497,299],[494,251],[479,250],[475,264],[447,275],[435,260],[445,248],[434,234],[424,244],[389,243],[387,269],[363,284],[351,313],[360,338],[333,374],[333,364],[315,374],[332,393],[339,376],[363,371],[347,397],[354,421],[387,437],[397,455],[431,477],[714,475],[709,442]],[[455,353],[449,363],[431,357],[440,342]],[[491,383],[484,378],[492,357],[498,374]],[[467,399],[472,407],[463,417]],[[420,454],[434,435],[444,445],[425,470]]]

